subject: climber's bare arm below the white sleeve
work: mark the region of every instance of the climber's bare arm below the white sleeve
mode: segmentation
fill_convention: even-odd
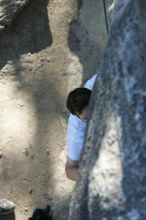
[[[76,181],[78,177],[78,161],[67,158],[65,172],[70,180]]]

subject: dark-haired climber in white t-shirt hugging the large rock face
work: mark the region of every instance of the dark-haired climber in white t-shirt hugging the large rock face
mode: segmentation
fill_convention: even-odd
[[[96,74],[89,79],[84,87],[71,91],[66,100],[66,107],[70,111],[67,127],[67,160],[66,176],[76,181],[81,151],[84,143],[85,129],[88,119],[88,106]]]

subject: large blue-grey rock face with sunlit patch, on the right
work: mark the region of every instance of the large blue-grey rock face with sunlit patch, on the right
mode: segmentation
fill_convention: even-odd
[[[146,2],[115,10],[69,220],[146,219]]]

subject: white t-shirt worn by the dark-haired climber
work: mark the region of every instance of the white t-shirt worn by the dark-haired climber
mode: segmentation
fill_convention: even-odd
[[[92,76],[85,88],[92,90],[96,76]],[[77,116],[70,114],[67,127],[67,156],[71,160],[79,160],[84,143],[86,122],[81,121]]]

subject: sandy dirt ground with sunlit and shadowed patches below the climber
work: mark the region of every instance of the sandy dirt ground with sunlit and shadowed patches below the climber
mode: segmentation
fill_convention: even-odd
[[[47,204],[54,219],[67,219],[74,183],[64,172],[65,99],[99,65],[102,7],[32,1],[0,36],[0,197],[16,204],[9,220],[26,220]]]

